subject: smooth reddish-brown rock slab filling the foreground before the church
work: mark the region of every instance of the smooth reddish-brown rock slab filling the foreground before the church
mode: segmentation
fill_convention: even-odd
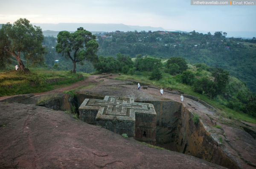
[[[0,168],[222,169],[207,161],[122,138],[63,111],[0,103]]]

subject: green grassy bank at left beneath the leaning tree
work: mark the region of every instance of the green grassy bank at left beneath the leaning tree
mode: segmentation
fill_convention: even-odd
[[[44,68],[30,68],[30,74],[15,70],[0,73],[0,97],[27,93],[41,93],[65,87],[88,77],[87,73],[72,74],[70,71],[52,71]],[[83,77],[81,77],[81,75]],[[47,83],[47,80],[61,79]]]

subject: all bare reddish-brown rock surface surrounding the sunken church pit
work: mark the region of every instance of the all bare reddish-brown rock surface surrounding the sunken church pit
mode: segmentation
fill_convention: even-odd
[[[73,89],[99,96],[181,102],[177,94],[164,92],[161,96],[158,89],[138,90],[130,81],[107,78],[89,76],[68,87],[34,94],[36,98]],[[6,98],[9,96],[0,100]],[[0,103],[0,124],[5,125],[0,127],[0,168],[221,168],[192,156],[141,145],[104,128],[85,124],[63,111],[33,103]],[[218,111],[192,99],[184,98],[182,103],[200,115],[211,135],[223,138],[221,146],[241,168],[255,168],[256,141],[243,130],[246,125],[255,130],[254,124],[221,118]],[[213,127],[214,124],[221,128]]]

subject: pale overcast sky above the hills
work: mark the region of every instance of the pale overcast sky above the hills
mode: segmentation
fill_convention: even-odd
[[[0,0],[0,23],[123,23],[197,31],[256,31],[256,6],[191,6],[190,0]]]

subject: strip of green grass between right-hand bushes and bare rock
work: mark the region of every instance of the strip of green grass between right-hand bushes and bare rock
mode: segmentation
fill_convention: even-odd
[[[115,76],[114,79],[116,80],[133,80],[136,82],[139,82],[140,84],[146,84],[146,85],[152,85],[159,88],[173,88],[174,90],[182,90],[185,94],[189,94],[192,96],[197,97],[198,99],[205,101],[207,104],[211,105],[212,107],[215,107],[219,110],[221,115],[226,118],[234,118],[237,121],[247,121],[250,123],[256,124],[256,118],[252,117],[251,115],[245,114],[245,113],[239,113],[235,110],[229,109],[224,106],[223,100],[221,96],[217,96],[218,99],[211,99],[209,96],[206,96],[204,94],[195,93],[192,90],[192,87],[189,85],[184,85],[176,82],[176,79],[174,76],[169,75],[168,73],[162,73],[163,78],[159,81],[155,80],[149,80],[148,77],[150,76],[150,72],[142,72],[141,75],[126,75],[122,74],[121,76]],[[231,80],[233,82],[233,79]]]

